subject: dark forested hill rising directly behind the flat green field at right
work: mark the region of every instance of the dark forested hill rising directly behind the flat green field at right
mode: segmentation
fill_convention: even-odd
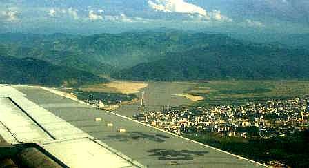
[[[309,78],[309,54],[281,45],[222,41],[208,47],[174,52],[166,59],[141,63],[114,73],[130,80],[181,81],[207,79]]]

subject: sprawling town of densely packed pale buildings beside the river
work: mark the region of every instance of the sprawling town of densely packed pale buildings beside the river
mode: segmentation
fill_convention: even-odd
[[[133,118],[175,134],[211,132],[270,138],[308,129],[309,96],[238,106],[173,107],[161,112],[141,112]]]

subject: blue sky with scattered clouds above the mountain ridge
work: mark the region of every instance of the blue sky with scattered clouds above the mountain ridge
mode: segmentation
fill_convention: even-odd
[[[309,32],[308,0],[0,0],[0,32]]]

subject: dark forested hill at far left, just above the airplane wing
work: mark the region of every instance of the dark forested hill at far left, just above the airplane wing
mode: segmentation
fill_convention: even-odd
[[[74,87],[106,81],[90,72],[60,67],[38,59],[0,56],[0,83]]]

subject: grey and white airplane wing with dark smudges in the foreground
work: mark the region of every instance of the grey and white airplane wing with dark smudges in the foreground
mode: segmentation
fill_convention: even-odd
[[[46,87],[0,85],[0,136],[6,154],[46,167],[265,167]]]

